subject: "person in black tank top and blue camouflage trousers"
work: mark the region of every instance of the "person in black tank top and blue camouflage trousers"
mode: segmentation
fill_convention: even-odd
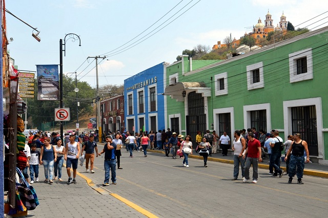
[[[296,133],[294,135],[294,139],[295,141],[292,142],[292,145],[290,146],[285,157],[285,161],[287,161],[288,157],[291,155],[291,159],[289,162],[288,183],[292,183],[293,177],[297,175],[297,183],[303,184],[302,178],[305,165],[304,162],[310,162],[308,143],[302,140],[302,136],[299,133]],[[304,161],[304,150],[306,152],[306,161]]]

